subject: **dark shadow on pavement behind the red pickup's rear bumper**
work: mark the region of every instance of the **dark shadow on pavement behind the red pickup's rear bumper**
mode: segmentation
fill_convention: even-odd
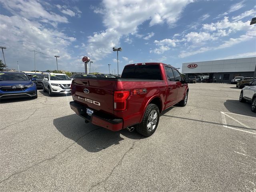
[[[129,132],[124,129],[113,132],[90,123],[86,124],[77,114],[56,118],[53,124],[62,135],[74,140],[88,152],[100,152],[112,145],[120,144],[126,138],[132,140],[144,138],[136,131]]]

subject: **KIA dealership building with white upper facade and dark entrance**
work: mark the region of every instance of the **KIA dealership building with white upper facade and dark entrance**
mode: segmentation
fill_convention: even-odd
[[[253,77],[256,57],[182,64],[182,73],[207,82],[231,82],[234,77]]]

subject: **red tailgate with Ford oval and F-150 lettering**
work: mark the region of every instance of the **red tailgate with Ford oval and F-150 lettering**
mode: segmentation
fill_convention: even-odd
[[[101,78],[74,79],[71,84],[73,100],[92,110],[114,113],[115,80]]]

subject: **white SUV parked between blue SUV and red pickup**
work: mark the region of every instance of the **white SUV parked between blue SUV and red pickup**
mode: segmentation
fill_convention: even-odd
[[[43,91],[53,94],[67,94],[70,90],[72,80],[66,74],[50,73],[44,76]]]

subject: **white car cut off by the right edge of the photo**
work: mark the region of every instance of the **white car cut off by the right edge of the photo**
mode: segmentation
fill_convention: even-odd
[[[251,110],[256,112],[256,80],[250,84],[244,84],[245,87],[241,90],[239,101],[252,103]]]

